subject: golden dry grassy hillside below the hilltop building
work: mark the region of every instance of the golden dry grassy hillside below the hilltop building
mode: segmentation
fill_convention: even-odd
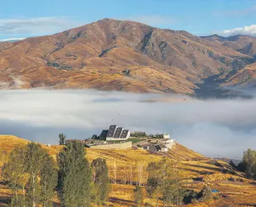
[[[2,160],[0,165],[8,159],[8,154],[17,145],[26,145],[29,143],[26,139],[20,139],[12,135],[0,135],[0,155]],[[62,150],[62,146],[46,146],[42,145],[49,154],[56,157],[56,154]],[[197,154],[182,145],[176,144],[168,154],[150,153],[142,149],[125,149],[125,150],[99,150],[87,148],[87,158],[90,162],[97,157],[102,157],[107,161],[109,167],[110,178],[114,177],[116,171],[117,184],[112,184],[112,190],[108,206],[132,206],[134,186],[124,184],[132,175],[132,180],[136,183],[138,178],[138,166],[144,166],[143,181],[147,180],[146,167],[151,161],[161,160],[163,158],[171,159],[178,163],[178,169],[181,177],[184,179],[184,185],[187,189],[200,191],[204,184],[209,184],[212,189],[220,191],[228,197],[220,197],[210,203],[200,203],[187,206],[230,206],[236,203],[239,206],[253,205],[256,203],[256,187],[251,181],[243,178],[244,182],[230,182],[227,178],[242,178],[242,173],[234,172],[236,175],[224,173],[223,169],[230,170],[230,166],[219,160],[212,160]],[[145,188],[143,188],[145,193]],[[146,195],[146,193],[145,193]],[[5,185],[0,184],[0,206],[5,206],[6,199],[11,196],[11,190]],[[2,202],[2,205],[1,205]],[[154,200],[145,197],[145,203],[154,205]],[[148,205],[150,206],[150,205]],[[155,206],[155,205],[154,205]],[[160,203],[160,206],[162,204]]]

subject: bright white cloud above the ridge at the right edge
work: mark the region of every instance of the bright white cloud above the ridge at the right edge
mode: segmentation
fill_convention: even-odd
[[[252,35],[256,36],[256,24],[250,26],[237,27],[234,29],[227,29],[222,32],[217,32],[218,35],[233,36],[233,35]]]

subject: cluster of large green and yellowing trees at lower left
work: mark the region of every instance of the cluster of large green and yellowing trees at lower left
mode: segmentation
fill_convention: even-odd
[[[41,145],[29,143],[11,152],[2,176],[14,191],[11,206],[53,206],[55,190],[62,207],[102,205],[110,191],[108,166],[98,158],[89,163],[84,145],[72,142],[57,157],[57,165]]]

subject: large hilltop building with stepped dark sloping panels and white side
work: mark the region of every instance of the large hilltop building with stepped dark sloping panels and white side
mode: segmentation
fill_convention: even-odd
[[[109,126],[108,130],[102,130],[100,134],[100,139],[105,139],[107,141],[111,140],[126,140],[130,138],[130,130],[123,129],[123,127],[118,127],[117,125]]]

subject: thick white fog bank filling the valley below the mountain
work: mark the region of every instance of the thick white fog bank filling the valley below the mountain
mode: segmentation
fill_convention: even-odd
[[[145,102],[163,97],[95,90],[2,90],[0,134],[57,144],[60,132],[86,139],[115,123],[132,131],[167,132],[211,157],[239,158],[256,145],[256,99],[165,96],[187,102]]]

